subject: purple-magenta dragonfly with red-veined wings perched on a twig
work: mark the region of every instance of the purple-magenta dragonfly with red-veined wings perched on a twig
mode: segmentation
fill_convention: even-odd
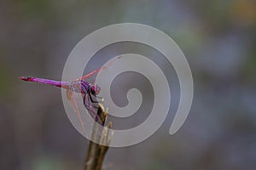
[[[118,57],[116,59],[120,59],[121,57]],[[108,65],[111,65],[115,59],[108,62]],[[97,108],[99,103],[103,102],[103,98],[97,96],[101,92],[101,88],[95,83],[90,83],[87,81],[88,78],[90,78],[92,75],[95,75],[97,72],[102,71],[105,68],[108,68],[108,65],[104,65],[99,69],[96,69],[95,71],[91,71],[89,74],[84,75],[83,77],[79,77],[76,80],[72,82],[61,82],[61,81],[55,81],[50,79],[44,79],[44,78],[38,78],[38,77],[20,77],[20,80],[26,81],[26,82],[38,82],[50,86],[54,86],[57,88],[64,88],[66,89],[67,99],[72,102],[74,110],[79,118],[79,122],[81,124],[81,127],[83,131],[84,129],[84,122],[81,117],[81,113],[79,111],[79,105],[77,103],[77,100],[75,99],[74,93],[81,94],[83,98],[83,103],[87,111],[90,113],[90,116],[93,117],[93,119],[100,123],[101,125],[104,124],[104,122],[101,119],[101,116],[97,115]],[[101,101],[98,101],[97,99],[101,99]]]

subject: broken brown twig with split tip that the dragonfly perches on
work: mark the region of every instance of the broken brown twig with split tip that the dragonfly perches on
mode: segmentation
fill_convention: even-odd
[[[101,121],[103,124],[106,122],[108,113],[104,111],[103,106],[98,105],[97,109],[98,116],[101,117]],[[108,127],[104,127],[103,129],[96,126],[96,123],[93,127],[93,132],[91,134],[91,138],[93,141],[97,141],[97,143],[102,142],[101,144],[97,144],[93,141],[90,141],[89,149],[87,151],[87,156],[84,161],[84,170],[102,170],[102,164],[104,161],[104,156],[108,151],[108,144],[111,142],[111,137],[109,136],[109,128],[112,127],[112,123],[108,123]],[[101,132],[102,131],[102,132]],[[100,134],[100,135],[98,135]]]

